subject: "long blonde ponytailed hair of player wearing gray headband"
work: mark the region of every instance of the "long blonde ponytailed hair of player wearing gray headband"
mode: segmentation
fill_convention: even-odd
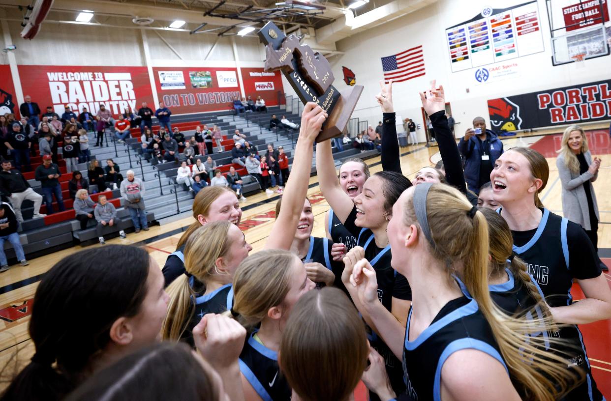
[[[425,241],[425,246],[430,248],[434,258],[444,262],[448,277],[454,262],[464,266],[459,273],[491,327],[521,399],[552,401],[561,398],[576,385],[579,373],[569,371],[566,359],[555,355],[557,351],[544,352],[540,337],[530,337],[529,343],[525,342],[525,336],[539,332],[549,321],[516,319],[507,316],[492,302],[488,289],[488,223],[483,213],[477,211],[470,217],[472,204],[459,190],[444,184],[430,187],[426,206],[433,245]],[[403,223],[419,225],[413,196],[404,204]]]

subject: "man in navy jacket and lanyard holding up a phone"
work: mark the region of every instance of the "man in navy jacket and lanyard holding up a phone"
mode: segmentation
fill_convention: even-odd
[[[463,154],[467,186],[480,193],[480,187],[490,181],[494,162],[503,154],[503,143],[494,132],[486,129],[486,120],[475,117],[473,128],[467,129],[458,142],[458,150]]]

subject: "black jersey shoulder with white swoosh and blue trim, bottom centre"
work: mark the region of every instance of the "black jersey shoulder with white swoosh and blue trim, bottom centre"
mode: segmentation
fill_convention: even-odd
[[[240,372],[263,401],[290,400],[292,391],[280,372],[277,352],[255,340],[255,333],[247,338],[238,359]]]

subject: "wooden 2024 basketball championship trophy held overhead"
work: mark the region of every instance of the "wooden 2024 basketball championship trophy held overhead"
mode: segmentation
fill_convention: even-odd
[[[310,46],[301,45],[295,35],[287,37],[273,22],[266,23],[258,35],[267,45],[265,71],[282,70],[304,104],[314,102],[329,115],[316,142],[342,135],[363,92],[362,85],[339,92],[331,85],[334,76],[327,59]]]

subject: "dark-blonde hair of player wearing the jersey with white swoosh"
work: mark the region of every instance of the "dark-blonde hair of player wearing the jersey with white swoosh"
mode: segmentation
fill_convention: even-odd
[[[233,311],[254,326],[269,308],[282,305],[291,287],[295,254],[279,249],[258,251],[241,262],[233,276]]]

